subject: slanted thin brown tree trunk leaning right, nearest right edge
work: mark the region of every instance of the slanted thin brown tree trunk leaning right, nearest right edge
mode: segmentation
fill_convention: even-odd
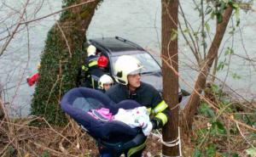
[[[228,8],[225,9],[223,14],[223,22],[217,25],[216,34],[213,38],[212,45],[207,53],[207,58],[201,64],[201,72],[195,82],[195,88],[189,98],[189,103],[183,109],[183,121],[186,121],[186,123],[183,123],[185,124],[185,126],[183,126],[183,129],[187,131],[188,129],[190,130],[192,127],[192,117],[194,117],[196,109],[198,108],[200,102],[200,95],[198,93],[201,93],[206,86],[208,73],[212,67],[213,60],[218,55],[218,48],[224,37],[224,33],[230,21],[232,11],[233,8],[231,6],[228,6]]]

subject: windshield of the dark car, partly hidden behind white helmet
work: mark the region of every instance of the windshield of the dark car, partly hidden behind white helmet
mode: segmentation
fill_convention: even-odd
[[[160,65],[148,53],[135,53],[135,54],[129,54],[129,55],[136,57],[143,64],[143,69],[142,69],[143,74],[160,71]],[[111,57],[112,67],[114,67],[115,61],[118,58],[119,56]],[[116,72],[114,71],[113,74],[116,74]]]

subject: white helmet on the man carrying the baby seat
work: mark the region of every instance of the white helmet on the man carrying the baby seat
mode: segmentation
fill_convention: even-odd
[[[128,55],[120,56],[114,64],[114,70],[116,74],[115,79],[119,83],[123,85],[127,85],[128,84],[127,76],[139,74],[142,68],[143,68],[143,65],[135,57],[128,56]]]

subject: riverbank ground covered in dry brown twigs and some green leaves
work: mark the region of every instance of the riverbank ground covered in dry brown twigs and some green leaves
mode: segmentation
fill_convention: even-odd
[[[250,104],[233,101],[220,113],[201,103],[188,136],[182,136],[183,156],[252,156],[256,153],[255,130],[225,118],[233,116],[236,121],[256,129],[256,102]],[[30,126],[31,121],[40,121],[41,126]],[[87,156],[96,157],[96,142],[72,120],[67,126],[51,126],[39,117],[11,119],[0,122],[1,156]],[[161,143],[158,137],[148,137],[145,157],[160,156]]]

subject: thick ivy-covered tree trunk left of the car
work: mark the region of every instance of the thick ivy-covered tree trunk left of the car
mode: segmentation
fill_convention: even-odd
[[[98,3],[100,0],[63,0],[63,8],[79,6],[62,12],[60,20],[48,32],[32,99],[32,115],[42,115],[51,124],[66,124],[59,103],[62,95],[76,85],[79,66],[86,56],[85,32]]]

